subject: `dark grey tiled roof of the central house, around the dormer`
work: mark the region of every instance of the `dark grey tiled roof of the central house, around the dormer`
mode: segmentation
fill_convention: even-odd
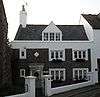
[[[14,40],[42,40],[42,31],[48,25],[19,26]],[[82,25],[56,25],[62,31],[62,40],[88,40]]]

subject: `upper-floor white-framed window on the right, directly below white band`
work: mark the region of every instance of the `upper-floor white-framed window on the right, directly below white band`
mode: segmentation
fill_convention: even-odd
[[[87,50],[73,50],[73,60],[85,59],[88,60]]]

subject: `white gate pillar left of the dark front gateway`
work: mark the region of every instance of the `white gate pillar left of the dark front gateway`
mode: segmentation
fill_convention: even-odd
[[[25,77],[25,91],[28,92],[28,97],[35,97],[35,79],[34,76]]]

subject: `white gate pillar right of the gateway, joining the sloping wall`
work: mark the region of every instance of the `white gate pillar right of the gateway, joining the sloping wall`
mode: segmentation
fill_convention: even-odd
[[[45,79],[45,96],[51,96],[51,75],[43,75]]]

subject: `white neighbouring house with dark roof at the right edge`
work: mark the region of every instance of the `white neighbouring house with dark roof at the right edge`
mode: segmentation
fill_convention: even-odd
[[[92,41],[94,41],[96,71],[98,71],[98,80],[100,82],[100,13],[82,14],[81,24]]]

